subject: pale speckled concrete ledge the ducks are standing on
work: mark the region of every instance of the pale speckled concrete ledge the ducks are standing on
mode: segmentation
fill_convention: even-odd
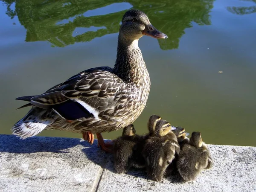
[[[196,181],[171,176],[157,183],[144,170],[116,174],[97,140],[0,135],[0,191],[256,191],[256,147],[208,146],[213,168]]]

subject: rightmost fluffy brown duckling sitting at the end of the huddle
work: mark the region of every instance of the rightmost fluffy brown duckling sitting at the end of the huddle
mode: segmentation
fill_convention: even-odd
[[[177,160],[177,169],[181,177],[195,180],[203,169],[212,167],[212,158],[200,132],[193,132],[189,144],[184,144]]]

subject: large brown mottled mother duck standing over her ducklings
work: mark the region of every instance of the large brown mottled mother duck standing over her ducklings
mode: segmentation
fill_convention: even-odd
[[[57,129],[82,133],[90,144],[96,134],[101,148],[111,152],[101,133],[133,123],[148,99],[150,78],[138,47],[143,35],[167,38],[145,13],[128,10],[119,29],[114,68],[88,69],[41,95],[18,97],[29,102],[20,108],[32,108],[12,127],[13,134],[25,139],[44,129]]]

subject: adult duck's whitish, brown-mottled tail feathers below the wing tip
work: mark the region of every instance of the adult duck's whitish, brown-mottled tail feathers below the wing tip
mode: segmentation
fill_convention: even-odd
[[[49,113],[49,110],[33,107],[25,117],[13,125],[12,134],[17,135],[21,139],[39,134],[47,125],[51,125],[54,122],[50,118],[50,114],[47,115],[47,113]]]

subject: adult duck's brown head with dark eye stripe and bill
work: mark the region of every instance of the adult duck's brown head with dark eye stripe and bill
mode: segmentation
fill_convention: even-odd
[[[167,35],[154,28],[145,13],[136,9],[128,10],[123,16],[119,35],[130,41],[139,39],[143,35],[159,39],[167,38]]]

